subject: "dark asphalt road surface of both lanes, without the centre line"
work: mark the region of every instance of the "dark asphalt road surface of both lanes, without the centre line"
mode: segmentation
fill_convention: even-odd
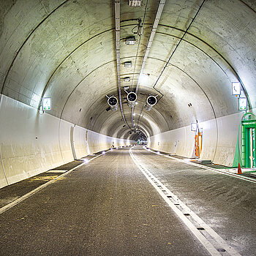
[[[227,244],[256,255],[256,184],[143,148],[132,152]],[[129,148],[97,157],[4,211],[0,227],[0,255],[210,255]]]

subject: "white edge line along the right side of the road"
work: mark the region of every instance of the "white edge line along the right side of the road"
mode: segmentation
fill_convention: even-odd
[[[239,176],[238,174],[236,174],[236,173],[231,173],[231,172],[229,172],[229,171],[227,171],[227,170],[214,169],[213,167],[198,165],[198,164],[196,164],[195,162],[187,162],[187,161],[184,161],[183,159],[178,159],[178,158],[176,158],[176,157],[167,156],[166,154],[157,153],[157,152],[155,152],[155,151],[152,151],[151,149],[146,149],[146,148],[144,148],[144,149],[147,150],[147,151],[151,151],[151,152],[154,153],[154,154],[158,154],[158,155],[160,155],[160,156],[162,156],[162,157],[167,157],[167,158],[173,159],[173,160],[175,160],[175,161],[177,161],[177,162],[183,162],[184,164],[194,165],[194,166],[196,166],[196,167],[203,168],[203,169],[206,169],[206,170],[214,170],[214,172],[222,173],[222,174],[225,174],[225,175],[227,175],[227,176],[239,178],[239,179],[241,179],[241,180],[243,180],[243,181],[249,181],[249,182],[252,182],[252,183],[255,183],[255,184],[256,184],[256,181],[255,181],[255,179],[253,179],[253,178],[244,177],[244,176]]]

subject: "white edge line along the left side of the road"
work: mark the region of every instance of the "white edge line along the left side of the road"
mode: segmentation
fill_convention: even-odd
[[[107,152],[108,151],[106,151],[106,153]],[[100,157],[100,156],[102,156],[102,154],[99,154],[97,157]],[[71,173],[73,170],[76,170],[79,167],[88,164],[89,162],[91,162],[91,160],[96,159],[97,157],[93,157],[93,158],[89,159],[87,162],[81,163],[80,165],[72,168],[71,170],[68,170],[66,173],[63,173],[63,174],[61,174],[60,176],[58,176],[56,178],[53,178],[52,180],[46,182],[45,184],[42,184],[41,186],[37,187],[36,189],[33,189],[31,192],[27,193],[26,195],[23,195],[23,196],[19,197],[18,199],[12,201],[12,203],[8,203],[6,206],[1,207],[0,208],[0,214],[4,213],[4,211],[9,210],[13,206],[18,205],[18,203],[22,202],[23,200],[27,199],[28,197],[31,197],[31,195],[34,195],[35,193],[39,192],[40,190],[44,189],[45,187],[48,187],[53,182],[59,180],[59,178],[67,176],[67,174]]]

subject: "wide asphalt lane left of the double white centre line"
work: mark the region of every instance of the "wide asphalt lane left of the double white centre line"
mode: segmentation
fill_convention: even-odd
[[[0,215],[0,255],[207,255],[118,149]]]

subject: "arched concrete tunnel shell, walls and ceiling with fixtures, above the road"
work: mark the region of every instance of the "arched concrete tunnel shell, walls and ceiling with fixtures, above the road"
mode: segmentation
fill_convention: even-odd
[[[135,145],[255,171],[256,1],[0,6],[0,188]]]

